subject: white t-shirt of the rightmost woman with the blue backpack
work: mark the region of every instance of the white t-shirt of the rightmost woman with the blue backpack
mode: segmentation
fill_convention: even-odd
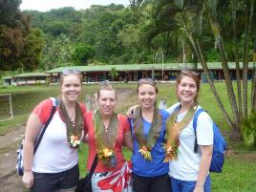
[[[172,114],[180,103],[174,104],[167,111]],[[201,108],[200,106],[198,109]],[[180,114],[177,121],[180,122],[185,114]],[[213,122],[207,113],[203,112],[198,117],[197,139],[199,145],[213,144]],[[202,153],[194,153],[195,132],[193,119],[181,131],[180,146],[177,160],[169,161],[169,175],[181,181],[197,181]]]

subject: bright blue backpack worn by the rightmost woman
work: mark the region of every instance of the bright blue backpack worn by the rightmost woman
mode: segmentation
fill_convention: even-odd
[[[205,112],[202,108],[198,109],[193,119],[193,128],[196,136],[194,146],[195,153],[198,152],[197,121],[199,115],[202,112]],[[210,164],[210,172],[221,173],[223,171],[225,150],[227,150],[227,147],[224,137],[222,136],[219,127],[215,124],[215,122],[213,122],[213,152]]]

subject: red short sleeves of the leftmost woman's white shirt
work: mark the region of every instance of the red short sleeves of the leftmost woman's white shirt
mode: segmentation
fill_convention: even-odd
[[[81,107],[82,113],[85,114],[86,113],[85,105],[82,103],[79,103],[79,105]],[[37,106],[34,107],[34,109],[32,110],[32,114],[37,115],[41,123],[45,124],[48,118],[50,117],[52,107],[53,107],[53,101],[50,98],[45,99],[41,101]]]

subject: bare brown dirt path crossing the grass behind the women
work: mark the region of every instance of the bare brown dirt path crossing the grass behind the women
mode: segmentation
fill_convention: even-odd
[[[133,97],[131,90],[120,89],[117,91],[118,107],[127,107],[131,104],[127,100]],[[16,174],[16,150],[24,136],[25,126],[17,126],[11,132],[0,136],[0,191],[1,192],[25,192],[21,177]]]

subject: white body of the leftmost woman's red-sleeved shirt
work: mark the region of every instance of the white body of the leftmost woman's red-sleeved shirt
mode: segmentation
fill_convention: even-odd
[[[70,147],[66,124],[56,110],[34,154],[32,171],[59,173],[71,169],[77,162],[77,150]]]

